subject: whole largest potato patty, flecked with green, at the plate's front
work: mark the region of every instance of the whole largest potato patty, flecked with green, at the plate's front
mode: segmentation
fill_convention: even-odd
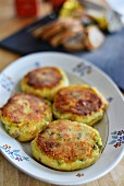
[[[77,121],[52,121],[32,141],[33,156],[42,164],[61,171],[85,168],[94,164],[102,151],[99,132]]]

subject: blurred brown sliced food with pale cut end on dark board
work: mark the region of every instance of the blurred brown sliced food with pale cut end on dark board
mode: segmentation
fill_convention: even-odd
[[[96,25],[84,26],[78,19],[59,18],[34,32],[36,37],[49,42],[53,47],[62,45],[67,50],[92,50],[104,40]]]

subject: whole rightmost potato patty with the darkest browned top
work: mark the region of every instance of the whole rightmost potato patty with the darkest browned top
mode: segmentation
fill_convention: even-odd
[[[103,117],[108,102],[95,88],[86,84],[61,89],[53,103],[58,119],[70,119],[94,125]]]

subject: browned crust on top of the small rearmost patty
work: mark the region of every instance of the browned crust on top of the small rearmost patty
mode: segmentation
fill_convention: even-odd
[[[33,70],[24,77],[24,81],[35,89],[52,88],[58,85],[62,74],[55,67],[45,67]]]

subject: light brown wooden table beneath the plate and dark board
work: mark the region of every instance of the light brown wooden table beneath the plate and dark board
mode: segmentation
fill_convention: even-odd
[[[0,39],[32,23],[34,19],[16,18],[13,0],[0,0]],[[103,2],[104,3],[104,2]],[[40,5],[38,16],[44,16],[51,8],[44,3]],[[0,49],[0,71],[12,63],[18,55]],[[109,156],[108,156],[109,159]],[[50,184],[37,181],[14,167],[2,154],[0,154],[0,186],[50,186]],[[124,186],[124,158],[114,170],[106,176],[86,184],[85,186]]]

